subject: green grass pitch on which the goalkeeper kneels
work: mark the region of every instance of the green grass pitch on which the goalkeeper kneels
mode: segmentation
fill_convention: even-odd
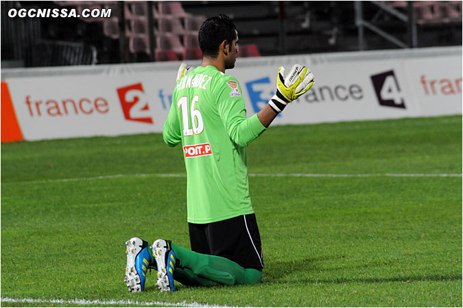
[[[185,174],[182,149],[160,134],[1,144],[2,298],[462,306],[462,177],[384,176],[461,175],[461,116],[270,127],[248,164],[259,174],[372,176],[250,177],[263,283],[160,293],[152,272],[147,292],[129,294],[128,238],[189,248],[186,178],[158,176]]]

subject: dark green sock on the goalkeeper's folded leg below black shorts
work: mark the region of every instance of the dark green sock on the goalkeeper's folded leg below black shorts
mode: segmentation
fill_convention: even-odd
[[[172,244],[172,249],[180,262],[180,268],[189,269],[192,274],[203,279],[222,285],[248,285],[261,282],[260,270],[243,268],[224,257],[195,253],[176,244]]]

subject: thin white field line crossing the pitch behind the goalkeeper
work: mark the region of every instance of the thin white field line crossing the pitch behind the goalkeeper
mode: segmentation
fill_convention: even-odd
[[[185,174],[140,173],[134,175],[102,175],[99,177],[75,177],[70,179],[50,179],[42,181],[3,182],[2,184],[43,184],[69,181],[92,181],[117,179],[119,177],[187,177]],[[317,174],[317,173],[250,173],[249,177],[462,177],[458,173],[367,173],[359,175]]]

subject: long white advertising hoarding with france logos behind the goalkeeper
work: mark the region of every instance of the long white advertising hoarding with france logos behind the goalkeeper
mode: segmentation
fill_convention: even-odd
[[[462,114],[461,48],[448,48],[238,59],[226,73],[239,80],[248,116],[274,94],[278,67],[294,63],[309,66],[316,82],[274,125]],[[2,77],[25,140],[116,136],[163,130],[178,66],[2,70]]]

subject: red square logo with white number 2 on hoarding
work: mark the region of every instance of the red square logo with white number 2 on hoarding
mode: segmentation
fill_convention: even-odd
[[[153,124],[153,118],[150,116],[150,106],[141,82],[117,88],[117,94],[126,120]]]

